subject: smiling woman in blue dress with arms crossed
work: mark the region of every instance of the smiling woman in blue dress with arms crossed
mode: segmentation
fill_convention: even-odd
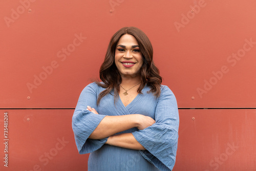
[[[79,154],[91,153],[88,170],[172,170],[177,102],[161,85],[141,30],[124,27],[113,35],[100,79],[83,89],[72,119]]]

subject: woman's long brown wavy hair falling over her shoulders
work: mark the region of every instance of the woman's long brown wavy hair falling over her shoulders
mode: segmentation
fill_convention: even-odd
[[[106,51],[105,59],[100,67],[99,76],[103,83],[96,83],[100,87],[105,88],[105,90],[99,94],[97,104],[99,104],[102,97],[110,93],[112,90],[114,90],[115,101],[118,98],[122,78],[115,65],[115,50],[117,42],[124,34],[130,34],[136,38],[143,58],[143,65],[140,69],[141,84],[137,89],[137,92],[142,94],[141,91],[145,87],[145,84],[147,84],[147,86],[151,87],[151,90],[148,91],[148,93],[153,92],[154,96],[160,96],[162,77],[159,75],[159,70],[153,61],[153,48],[150,39],[148,39],[143,31],[136,27],[124,27],[112,36],[108,50]]]

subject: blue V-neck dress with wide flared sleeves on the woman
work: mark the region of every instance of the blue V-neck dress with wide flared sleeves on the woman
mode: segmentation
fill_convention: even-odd
[[[72,128],[79,154],[90,153],[89,171],[155,171],[172,170],[175,164],[179,114],[176,98],[167,86],[161,86],[161,94],[156,98],[147,93],[147,85],[136,98],[124,106],[120,97],[114,103],[114,92],[105,95],[99,105],[97,97],[104,88],[90,83],[84,88],[72,118]],[[99,115],[87,109],[94,108]],[[88,137],[105,116],[142,114],[156,120],[144,130],[133,128],[121,133],[132,133],[146,150],[134,150],[104,144],[108,137],[93,140]]]

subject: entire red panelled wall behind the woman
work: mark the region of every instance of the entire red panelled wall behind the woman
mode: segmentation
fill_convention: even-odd
[[[0,137],[8,168],[79,170],[71,119],[111,36],[135,26],[180,108],[174,170],[255,170],[256,2],[0,2]],[[7,116],[6,116],[7,117]],[[1,131],[2,130],[2,131]],[[49,155],[49,156],[48,156]]]

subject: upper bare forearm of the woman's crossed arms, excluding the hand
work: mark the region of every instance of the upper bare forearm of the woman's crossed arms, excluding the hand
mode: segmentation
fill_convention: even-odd
[[[113,134],[129,130],[138,126],[138,115],[105,116],[93,133],[90,139],[102,139]]]

